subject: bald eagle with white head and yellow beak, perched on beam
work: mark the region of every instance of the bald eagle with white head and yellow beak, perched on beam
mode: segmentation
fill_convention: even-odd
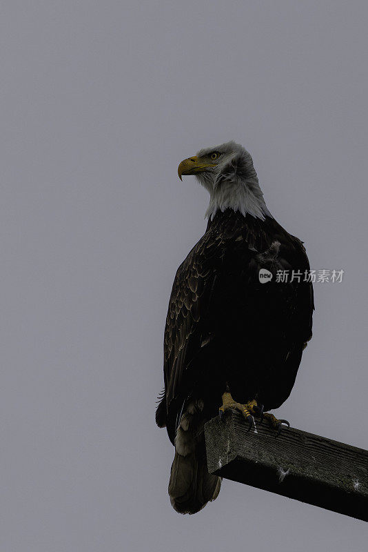
[[[195,175],[208,190],[208,224],[174,279],[156,423],[175,446],[172,506],[196,513],[221,486],[207,471],[205,423],[235,408],[249,424],[258,415],[280,430],[285,420],[267,411],[292,391],[311,339],[314,299],[303,242],[269,213],[243,146],[230,141],[200,150],[181,161],[183,175]]]

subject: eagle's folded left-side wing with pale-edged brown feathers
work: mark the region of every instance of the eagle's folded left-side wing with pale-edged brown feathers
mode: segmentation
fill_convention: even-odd
[[[185,371],[209,339],[209,305],[221,268],[224,241],[207,232],[179,266],[170,295],[164,335],[164,380],[167,431],[172,440],[190,389]],[[174,413],[174,420],[170,416]]]

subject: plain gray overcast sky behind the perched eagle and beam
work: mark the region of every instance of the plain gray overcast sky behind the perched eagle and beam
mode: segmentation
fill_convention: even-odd
[[[167,302],[205,229],[176,168],[229,139],[305,241],[314,339],[276,411],[368,448],[365,1],[5,1],[1,530],[6,552],[363,551],[367,524],[225,481],[167,496]]]

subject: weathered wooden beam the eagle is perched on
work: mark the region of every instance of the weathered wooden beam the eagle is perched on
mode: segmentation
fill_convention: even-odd
[[[368,521],[368,451],[237,412],[205,425],[209,473]]]

